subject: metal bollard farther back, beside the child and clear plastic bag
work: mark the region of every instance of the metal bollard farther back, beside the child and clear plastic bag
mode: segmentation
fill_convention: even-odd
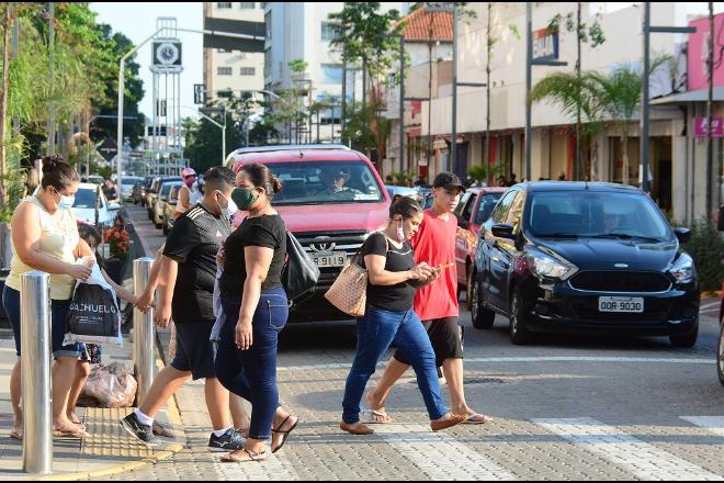
[[[133,287],[134,294],[139,296],[148,284],[151,265],[154,259],[149,257],[137,258],[133,261]],[[156,369],[155,353],[155,332],[154,332],[154,310],[149,308],[146,314],[138,308],[133,310],[133,360],[138,381],[138,392],[136,402],[146,396],[154,382]]]

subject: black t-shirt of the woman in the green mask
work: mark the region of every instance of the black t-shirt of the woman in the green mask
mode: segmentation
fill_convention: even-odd
[[[247,280],[245,247],[272,248],[274,255],[261,291],[282,287],[282,269],[286,258],[286,227],[280,215],[246,218],[224,244],[224,273],[219,280],[222,296],[241,300]]]

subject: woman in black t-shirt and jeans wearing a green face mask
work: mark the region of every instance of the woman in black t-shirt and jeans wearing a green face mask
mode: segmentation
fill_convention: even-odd
[[[226,389],[251,403],[245,448],[223,458],[242,462],[265,459],[270,437],[276,452],[298,420],[279,407],[276,387],[276,344],[289,315],[281,279],[286,228],[271,206],[281,182],[263,165],[245,165],[236,186],[231,199],[249,215],[224,244],[219,287],[226,323],[215,370]]]

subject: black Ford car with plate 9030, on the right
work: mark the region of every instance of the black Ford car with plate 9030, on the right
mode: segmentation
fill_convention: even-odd
[[[513,344],[535,332],[668,336],[692,347],[699,284],[672,229],[642,191],[608,183],[511,188],[480,227],[473,323],[510,319]]]

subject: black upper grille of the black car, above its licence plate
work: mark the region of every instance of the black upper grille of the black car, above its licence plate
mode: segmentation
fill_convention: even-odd
[[[570,279],[570,287],[589,292],[666,292],[671,282],[657,272],[582,271]]]

